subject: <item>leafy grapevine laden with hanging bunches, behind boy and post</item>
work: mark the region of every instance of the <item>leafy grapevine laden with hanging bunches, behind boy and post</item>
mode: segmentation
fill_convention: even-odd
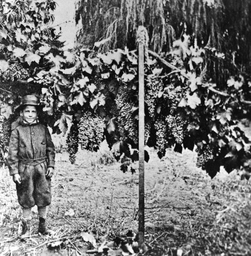
[[[22,8],[16,8],[19,4]],[[78,146],[97,151],[105,138],[125,172],[139,159],[137,52],[63,50],[48,24],[54,4],[3,1],[0,129],[6,120],[18,118],[15,107],[21,96],[36,94],[43,106],[40,120],[54,133],[69,131],[72,163]],[[250,144],[237,125],[240,116],[250,113],[250,76],[239,72],[219,84],[204,71],[212,65],[209,55],[221,61],[224,54],[198,46],[196,40],[179,46],[179,51],[162,57],[149,51],[146,58],[146,145],[156,148],[159,157],[165,156],[166,148],[196,150],[197,165],[211,177],[220,166],[227,172],[241,166],[250,170]],[[19,68],[13,70],[13,65]],[[0,142],[3,162],[8,141],[1,137]]]

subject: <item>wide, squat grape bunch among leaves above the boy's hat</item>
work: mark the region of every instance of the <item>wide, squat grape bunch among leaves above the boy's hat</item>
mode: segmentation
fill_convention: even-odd
[[[22,68],[17,62],[11,64],[3,74],[5,81],[27,80],[29,77],[29,70]]]

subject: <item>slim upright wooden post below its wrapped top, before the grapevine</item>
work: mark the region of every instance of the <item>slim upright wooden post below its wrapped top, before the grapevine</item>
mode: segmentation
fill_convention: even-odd
[[[144,42],[139,41],[139,247],[143,249],[145,234],[145,100],[144,100]]]

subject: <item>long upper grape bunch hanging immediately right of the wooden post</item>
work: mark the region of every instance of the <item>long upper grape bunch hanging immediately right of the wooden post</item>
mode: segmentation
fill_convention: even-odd
[[[146,82],[145,102],[147,104],[148,113],[150,117],[154,117],[156,98],[158,96],[159,88],[162,88],[162,81],[154,77],[148,77]]]

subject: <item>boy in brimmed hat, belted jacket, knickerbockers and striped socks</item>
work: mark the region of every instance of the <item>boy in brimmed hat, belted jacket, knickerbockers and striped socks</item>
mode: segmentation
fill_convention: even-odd
[[[21,238],[30,236],[31,208],[34,205],[38,208],[38,232],[54,233],[45,225],[45,219],[47,206],[51,204],[55,147],[47,127],[38,122],[39,107],[39,100],[34,95],[22,99],[18,109],[23,120],[12,127],[9,143],[8,167],[22,208]]]

